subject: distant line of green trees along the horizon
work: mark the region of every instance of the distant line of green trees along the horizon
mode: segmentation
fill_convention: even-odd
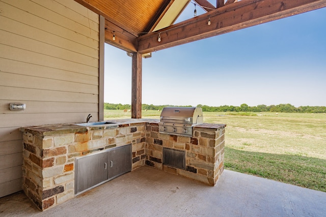
[[[291,104],[279,104],[279,105],[258,105],[258,106],[248,106],[243,103],[240,106],[206,106],[206,105],[197,105],[201,107],[203,111],[208,112],[288,112],[288,113],[325,113],[326,106],[299,106],[295,107]],[[148,105],[142,104],[143,110],[162,110],[164,107],[175,107],[173,105]],[[183,107],[192,107],[192,106],[183,106]],[[124,110],[131,109],[131,105],[128,104],[113,104],[113,103],[104,103],[104,109],[110,110]]]

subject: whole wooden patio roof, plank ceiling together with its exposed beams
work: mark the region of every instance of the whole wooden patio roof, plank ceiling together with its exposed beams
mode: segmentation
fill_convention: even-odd
[[[75,1],[105,18],[106,43],[139,53],[157,51],[326,7],[326,0],[216,0],[215,5],[207,0]],[[196,4],[206,13],[173,24],[189,3]],[[116,40],[113,40],[113,35]],[[160,42],[158,35],[161,37]]]

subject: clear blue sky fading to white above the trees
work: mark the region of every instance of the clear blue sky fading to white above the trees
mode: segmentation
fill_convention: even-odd
[[[104,65],[104,102],[131,104],[131,57],[105,45]],[[326,8],[153,52],[142,103],[326,106]]]

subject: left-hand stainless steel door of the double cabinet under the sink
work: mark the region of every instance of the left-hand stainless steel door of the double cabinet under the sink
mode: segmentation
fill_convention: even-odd
[[[107,180],[107,151],[76,159],[75,194]]]

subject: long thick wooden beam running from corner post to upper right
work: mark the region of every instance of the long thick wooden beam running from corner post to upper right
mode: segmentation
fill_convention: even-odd
[[[325,0],[242,0],[138,38],[148,53],[326,7]],[[211,25],[207,25],[210,18]]]

